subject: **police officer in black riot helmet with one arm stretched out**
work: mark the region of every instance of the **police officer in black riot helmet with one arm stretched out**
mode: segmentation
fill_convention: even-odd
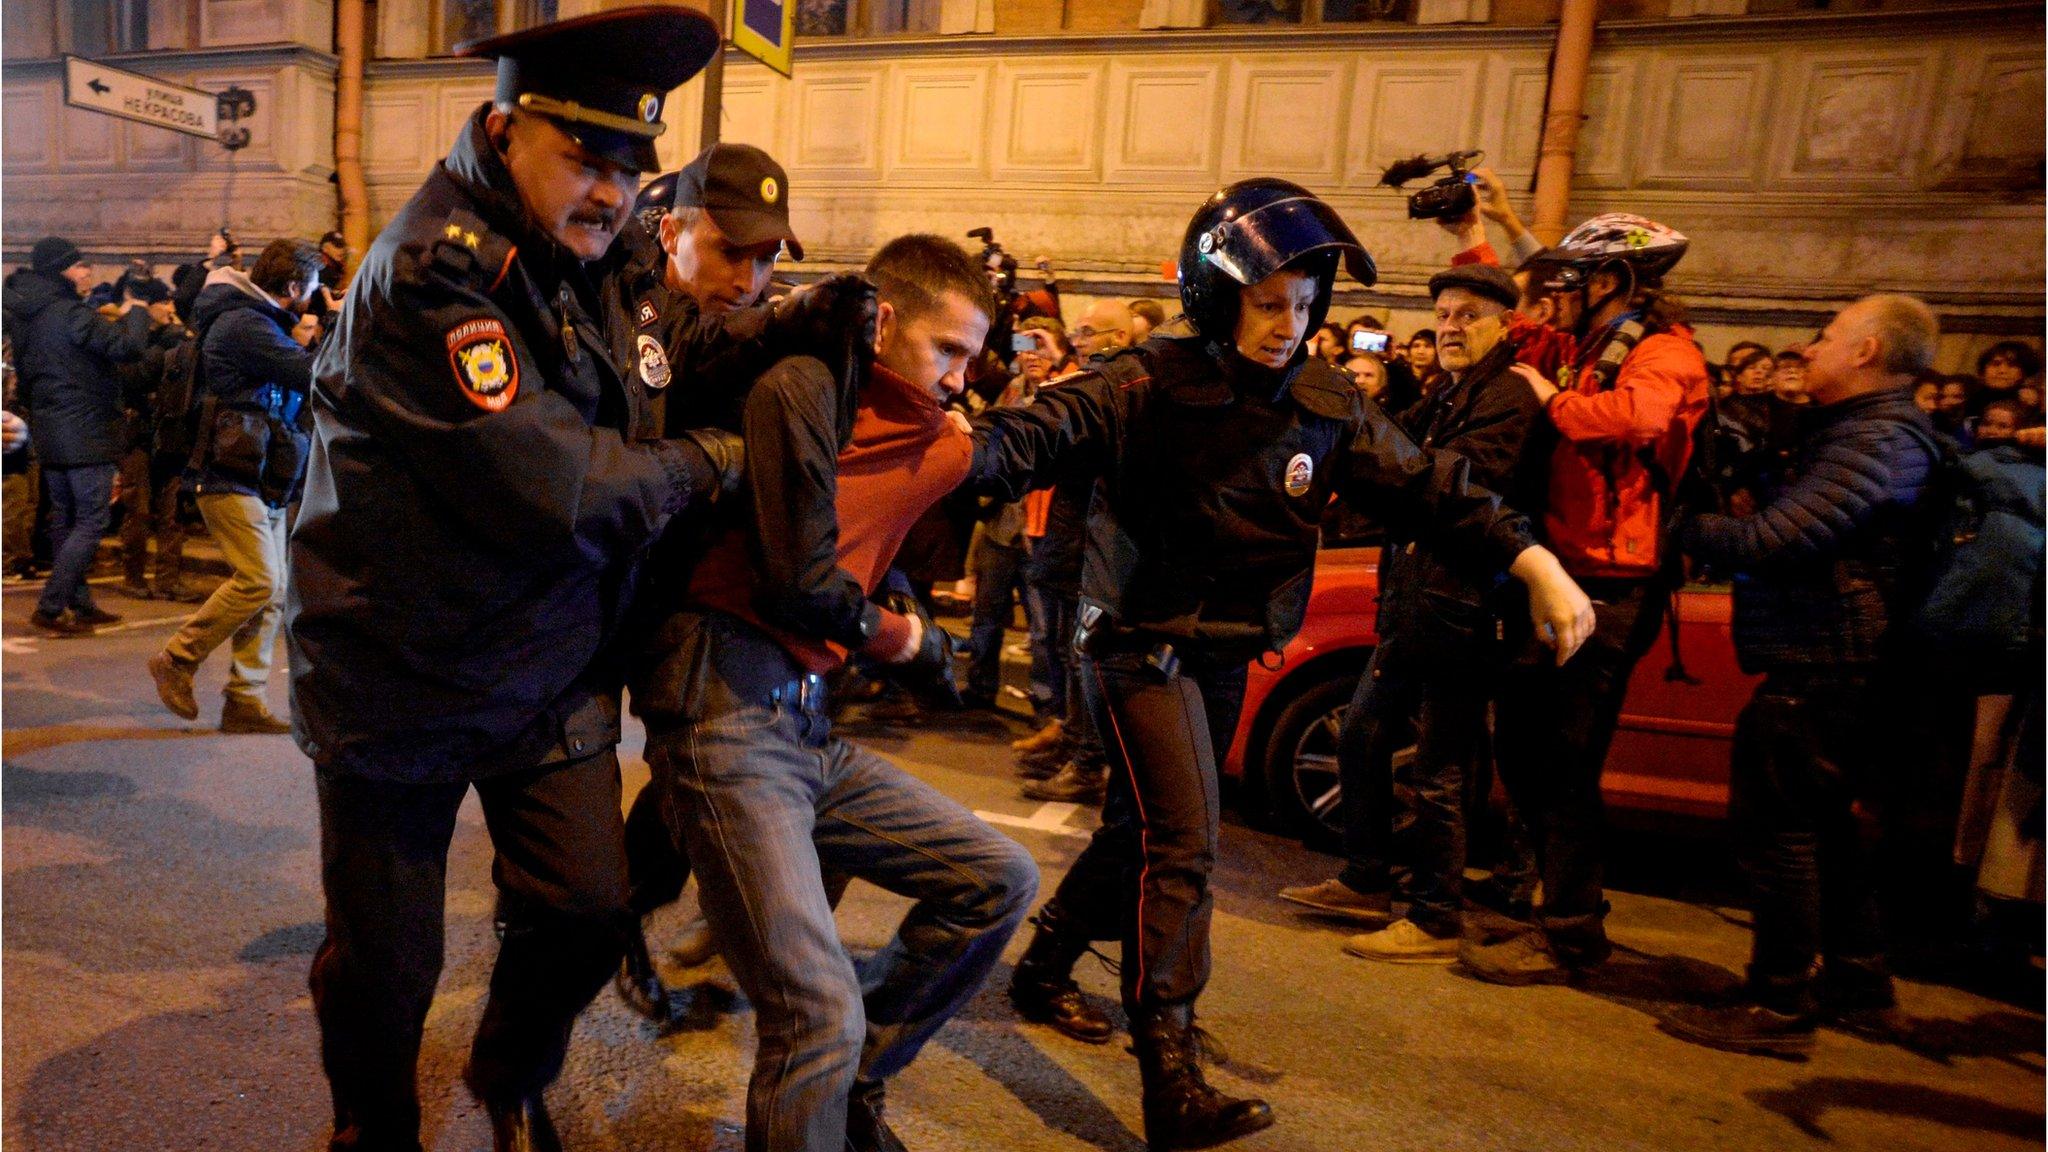
[[[1331,496],[1438,541],[1475,572],[1509,570],[1559,658],[1591,625],[1583,592],[1534,543],[1528,519],[1415,447],[1303,338],[1329,312],[1337,271],[1374,281],[1337,213],[1286,180],[1219,191],[1180,254],[1192,334],[1141,346],[975,418],[983,492],[1038,486],[1065,461],[1098,469],[1073,644],[1110,756],[1102,828],[1042,906],[1012,1000],[1087,1041],[1110,1025],[1071,968],[1122,941],[1151,1148],[1208,1148],[1272,1123],[1264,1101],[1202,1078],[1194,1000],[1208,980],[1208,871],[1217,754],[1245,666],[1280,652],[1309,603],[1317,527]],[[1028,476],[1028,482],[991,482]]]

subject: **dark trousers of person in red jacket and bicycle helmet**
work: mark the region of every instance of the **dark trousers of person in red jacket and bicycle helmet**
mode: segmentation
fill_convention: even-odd
[[[1581,580],[1591,640],[1563,666],[1516,664],[1495,711],[1495,758],[1536,845],[1542,927],[1569,963],[1608,955],[1599,773],[1636,660],[1663,627],[1669,594],[1647,580]]]

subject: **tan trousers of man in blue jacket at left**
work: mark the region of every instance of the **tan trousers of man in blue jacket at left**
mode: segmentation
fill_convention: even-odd
[[[164,650],[174,660],[199,664],[231,637],[227,695],[262,703],[285,613],[285,508],[256,496],[213,492],[199,496],[199,515],[207,519],[207,531],[221,545],[233,576],[199,605]]]

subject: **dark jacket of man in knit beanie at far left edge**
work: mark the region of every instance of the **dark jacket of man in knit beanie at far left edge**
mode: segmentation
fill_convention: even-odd
[[[18,394],[43,467],[119,463],[127,451],[121,375],[141,357],[150,312],[109,322],[63,277],[16,269],[0,291]]]

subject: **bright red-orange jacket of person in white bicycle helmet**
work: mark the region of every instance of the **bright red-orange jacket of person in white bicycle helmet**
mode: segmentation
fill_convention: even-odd
[[[1581,351],[1548,406],[1559,443],[1544,535],[1573,576],[1651,576],[1663,488],[1686,471],[1692,430],[1706,416],[1706,359],[1690,328],[1657,332],[1599,392],[1591,371],[1599,353],[1599,344]]]

